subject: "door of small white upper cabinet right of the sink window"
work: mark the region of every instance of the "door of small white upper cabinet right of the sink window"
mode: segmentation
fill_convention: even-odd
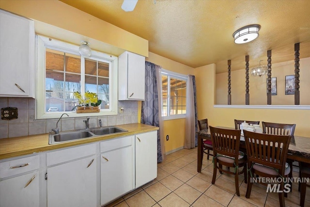
[[[128,52],[128,99],[144,100],[145,57]]]

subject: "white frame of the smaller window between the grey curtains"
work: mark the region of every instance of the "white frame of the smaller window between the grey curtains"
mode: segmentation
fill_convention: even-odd
[[[162,78],[162,75],[165,75],[167,76],[167,79],[168,79],[168,83],[167,83],[167,111],[169,111],[169,113],[167,113],[167,116],[164,116],[163,115],[163,109],[164,109],[164,106],[163,106],[163,95],[162,95],[162,85],[160,86],[160,89],[161,89],[161,111],[162,111],[162,118],[163,120],[173,120],[173,119],[183,119],[183,118],[186,118],[186,113],[183,113],[183,114],[174,114],[174,115],[171,115],[170,114],[170,107],[171,107],[171,103],[170,103],[170,92],[171,92],[171,89],[170,89],[170,79],[171,78],[175,78],[175,79],[178,79],[178,80],[184,80],[186,82],[186,87],[187,87],[187,78],[188,76],[186,75],[183,75],[183,74],[180,74],[180,73],[176,73],[176,72],[172,72],[172,71],[169,71],[169,70],[166,70],[166,69],[161,69],[161,72],[160,72],[160,78]],[[187,94],[186,94],[186,100],[187,100]],[[186,103],[187,104],[187,103]]]

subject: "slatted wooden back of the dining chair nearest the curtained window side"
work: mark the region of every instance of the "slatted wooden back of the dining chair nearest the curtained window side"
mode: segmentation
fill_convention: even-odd
[[[240,146],[240,129],[223,129],[210,126],[213,152],[238,159]]]

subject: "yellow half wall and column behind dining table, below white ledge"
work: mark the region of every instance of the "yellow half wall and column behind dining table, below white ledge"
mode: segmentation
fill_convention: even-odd
[[[214,108],[215,66],[196,68],[195,77],[198,118],[208,118],[209,125],[234,127],[234,119],[296,124],[295,135],[310,137],[310,110]]]

